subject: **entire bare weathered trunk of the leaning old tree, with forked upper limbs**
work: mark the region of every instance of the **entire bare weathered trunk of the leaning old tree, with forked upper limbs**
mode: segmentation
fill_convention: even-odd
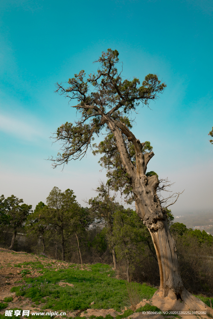
[[[191,309],[204,308],[205,304],[184,288],[179,271],[177,249],[168,227],[166,211],[161,207],[156,194],[158,178],[156,175],[146,176],[147,164],[154,153],[143,154],[142,149],[145,143],[136,139],[125,124],[112,120],[109,116],[105,118],[114,134],[126,173],[132,181],[136,212],[148,227],[156,249],[160,270],[160,287],[156,293],[162,293],[162,297],[168,296],[171,299],[180,298]],[[122,133],[134,145],[136,167],[131,162]]]

